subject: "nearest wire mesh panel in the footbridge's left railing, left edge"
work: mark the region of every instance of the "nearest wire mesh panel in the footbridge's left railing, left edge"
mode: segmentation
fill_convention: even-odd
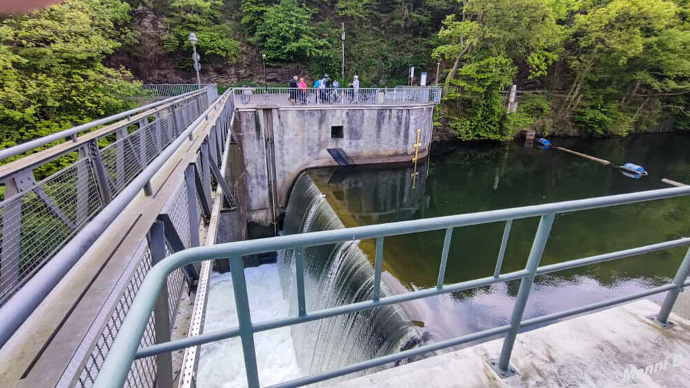
[[[0,303],[103,207],[81,159],[0,203]]]

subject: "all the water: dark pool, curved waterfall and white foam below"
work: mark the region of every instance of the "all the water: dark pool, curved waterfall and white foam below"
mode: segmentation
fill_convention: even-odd
[[[690,136],[555,139],[555,145],[636,163],[649,176],[633,179],[614,167],[524,143],[443,143],[411,164],[311,170],[290,194],[284,233],[372,225],[507,207],[553,203],[690,183]],[[416,173],[415,173],[416,172]],[[689,235],[690,198],[559,215],[541,264],[668,241]],[[522,269],[538,218],[513,223],[502,272]],[[446,284],[491,276],[504,223],[456,228]],[[382,296],[434,287],[444,232],[387,237]],[[308,311],[371,300],[374,241],[305,250]],[[673,277],[684,249],[538,276],[524,318],[595,303],[659,285]],[[247,269],[255,322],[297,314],[294,252],[277,265]],[[229,274],[214,274],[205,330],[237,325]],[[262,385],[351,365],[422,343],[469,334],[509,321],[519,283],[501,283],[257,334]],[[281,295],[282,293],[282,295]],[[662,296],[658,297],[662,298]],[[270,303],[266,303],[268,300]],[[204,345],[199,387],[244,385],[239,340]],[[404,360],[409,362],[413,360]],[[328,386],[331,381],[325,382]]]

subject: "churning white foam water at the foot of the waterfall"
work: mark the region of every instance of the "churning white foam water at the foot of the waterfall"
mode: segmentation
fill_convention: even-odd
[[[288,315],[290,303],[283,297],[275,264],[245,269],[252,321],[281,318]],[[210,278],[204,333],[237,327],[237,307],[230,273],[213,273]],[[262,387],[304,376],[297,365],[290,327],[262,331],[254,336]],[[197,387],[246,387],[246,371],[239,338],[209,343],[201,347]]]

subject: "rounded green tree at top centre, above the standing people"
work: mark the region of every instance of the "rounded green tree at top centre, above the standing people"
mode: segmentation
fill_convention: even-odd
[[[266,54],[270,64],[323,57],[328,42],[317,36],[311,23],[313,12],[296,0],[282,0],[266,10],[264,22],[251,41]]]

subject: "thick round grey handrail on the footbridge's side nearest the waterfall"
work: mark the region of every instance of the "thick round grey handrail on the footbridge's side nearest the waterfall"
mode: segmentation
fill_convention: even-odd
[[[101,236],[112,221],[139,195],[160,168],[177,152],[186,139],[193,134],[199,125],[208,119],[208,115],[230,97],[232,91],[226,91],[209,108],[201,113],[184,131],[172,141],[159,156],[127,185],[112,201],[97,214],[75,238],[72,238],[46,265],[37,272],[26,285],[21,287],[5,305],[0,307],[0,347],[14,334],[26,318],[36,309],[50,290],[59,283],[79,258]]]

